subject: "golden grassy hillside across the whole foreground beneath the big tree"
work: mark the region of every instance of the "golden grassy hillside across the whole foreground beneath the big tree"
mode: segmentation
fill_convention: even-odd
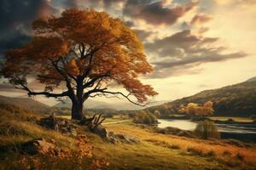
[[[8,108],[0,109],[0,169],[19,167],[20,157],[23,156],[19,152],[19,147],[31,139],[54,140],[61,150],[79,150],[76,148],[76,137],[38,126],[35,119],[39,119],[40,116],[29,111],[17,106],[13,107],[13,111]],[[107,160],[109,169],[198,170],[255,169],[256,167],[256,148],[252,144],[236,146],[218,140],[188,139],[159,134],[148,128],[137,127],[131,121],[105,126],[108,131],[131,135],[141,141],[139,144],[111,144],[79,126],[79,133],[86,135],[88,144],[93,146],[93,158]],[[29,159],[45,161],[40,156],[29,156]],[[61,162],[60,166],[67,168],[75,160],[55,161]],[[87,169],[86,164],[84,166],[83,168]],[[56,167],[58,168],[61,169]]]

